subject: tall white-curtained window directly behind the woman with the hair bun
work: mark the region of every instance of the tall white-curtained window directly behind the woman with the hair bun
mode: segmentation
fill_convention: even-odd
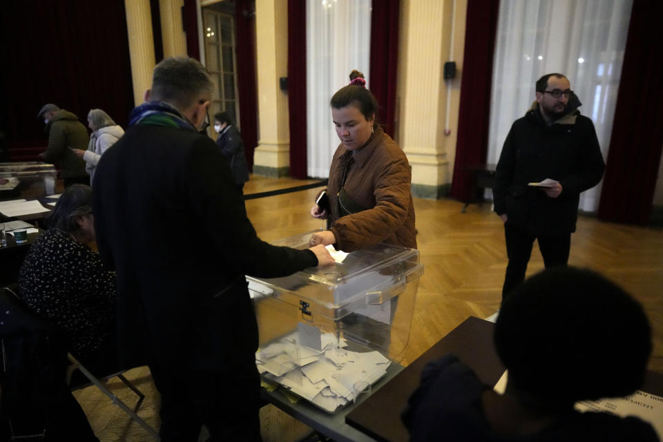
[[[340,143],[329,100],[353,69],[369,87],[371,0],[307,0],[306,17],[307,174],[327,177]]]

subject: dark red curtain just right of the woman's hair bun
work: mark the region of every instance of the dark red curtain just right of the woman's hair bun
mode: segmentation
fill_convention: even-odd
[[[390,137],[394,137],[396,114],[400,3],[373,0],[371,11],[370,88],[380,106],[378,122]]]

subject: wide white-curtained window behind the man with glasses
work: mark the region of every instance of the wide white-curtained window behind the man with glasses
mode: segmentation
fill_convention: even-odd
[[[490,103],[488,162],[497,163],[511,124],[535,99],[541,75],[561,73],[594,122],[604,158],[633,0],[500,0]],[[601,184],[580,195],[596,211]]]

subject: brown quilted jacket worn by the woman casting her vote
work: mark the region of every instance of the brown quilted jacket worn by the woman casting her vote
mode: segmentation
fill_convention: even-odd
[[[412,173],[407,157],[391,137],[376,128],[367,144],[354,153],[345,191],[363,210],[340,216],[337,201],[343,170],[351,151],[340,144],[329,170],[327,193],[332,207],[334,247],[354,251],[378,242],[416,249]]]

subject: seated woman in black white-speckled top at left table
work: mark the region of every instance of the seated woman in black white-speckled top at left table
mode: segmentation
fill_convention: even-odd
[[[48,230],[28,251],[19,272],[19,296],[49,325],[90,372],[117,369],[115,272],[90,249],[95,241],[92,189],[73,184],[46,218]]]

